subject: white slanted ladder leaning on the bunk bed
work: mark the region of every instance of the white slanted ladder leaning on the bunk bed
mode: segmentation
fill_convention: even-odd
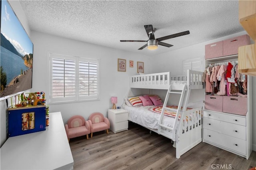
[[[172,108],[166,107],[170,94],[180,94],[180,101],[179,101],[177,109],[172,109]],[[182,111],[184,111],[184,109],[186,110],[186,108],[183,107],[186,105],[186,101],[184,102],[184,96],[186,94],[187,94],[187,86],[186,85],[184,85],[182,90],[180,90],[180,91],[172,91],[172,85],[170,85],[168,92],[166,94],[166,98],[164,100],[164,105],[163,105],[161,116],[160,116],[160,119],[158,122],[158,134],[166,136],[167,138],[171,138],[173,141],[175,141],[175,137],[176,137],[176,128],[175,127],[177,126],[177,123],[178,123],[178,116],[175,117],[173,127],[165,126],[162,124],[162,119],[164,117],[164,110],[172,111],[172,112],[176,113],[176,115],[180,115],[180,113]],[[181,111],[181,109],[182,109],[182,111]]]

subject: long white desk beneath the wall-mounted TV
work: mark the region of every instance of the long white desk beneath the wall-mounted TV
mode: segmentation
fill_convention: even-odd
[[[60,112],[50,113],[46,130],[10,137],[0,148],[1,170],[73,169],[74,160]]]

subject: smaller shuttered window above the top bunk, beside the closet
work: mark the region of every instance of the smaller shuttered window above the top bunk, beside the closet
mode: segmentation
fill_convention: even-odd
[[[187,75],[187,70],[204,71],[203,57],[182,61],[182,75]]]

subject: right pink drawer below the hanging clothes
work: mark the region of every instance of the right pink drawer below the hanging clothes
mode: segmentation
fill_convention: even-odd
[[[246,116],[247,97],[223,96],[223,112]]]

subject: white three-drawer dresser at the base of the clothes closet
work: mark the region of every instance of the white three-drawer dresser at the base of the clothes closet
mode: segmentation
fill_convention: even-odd
[[[204,142],[246,158],[246,117],[229,113],[204,111]]]

